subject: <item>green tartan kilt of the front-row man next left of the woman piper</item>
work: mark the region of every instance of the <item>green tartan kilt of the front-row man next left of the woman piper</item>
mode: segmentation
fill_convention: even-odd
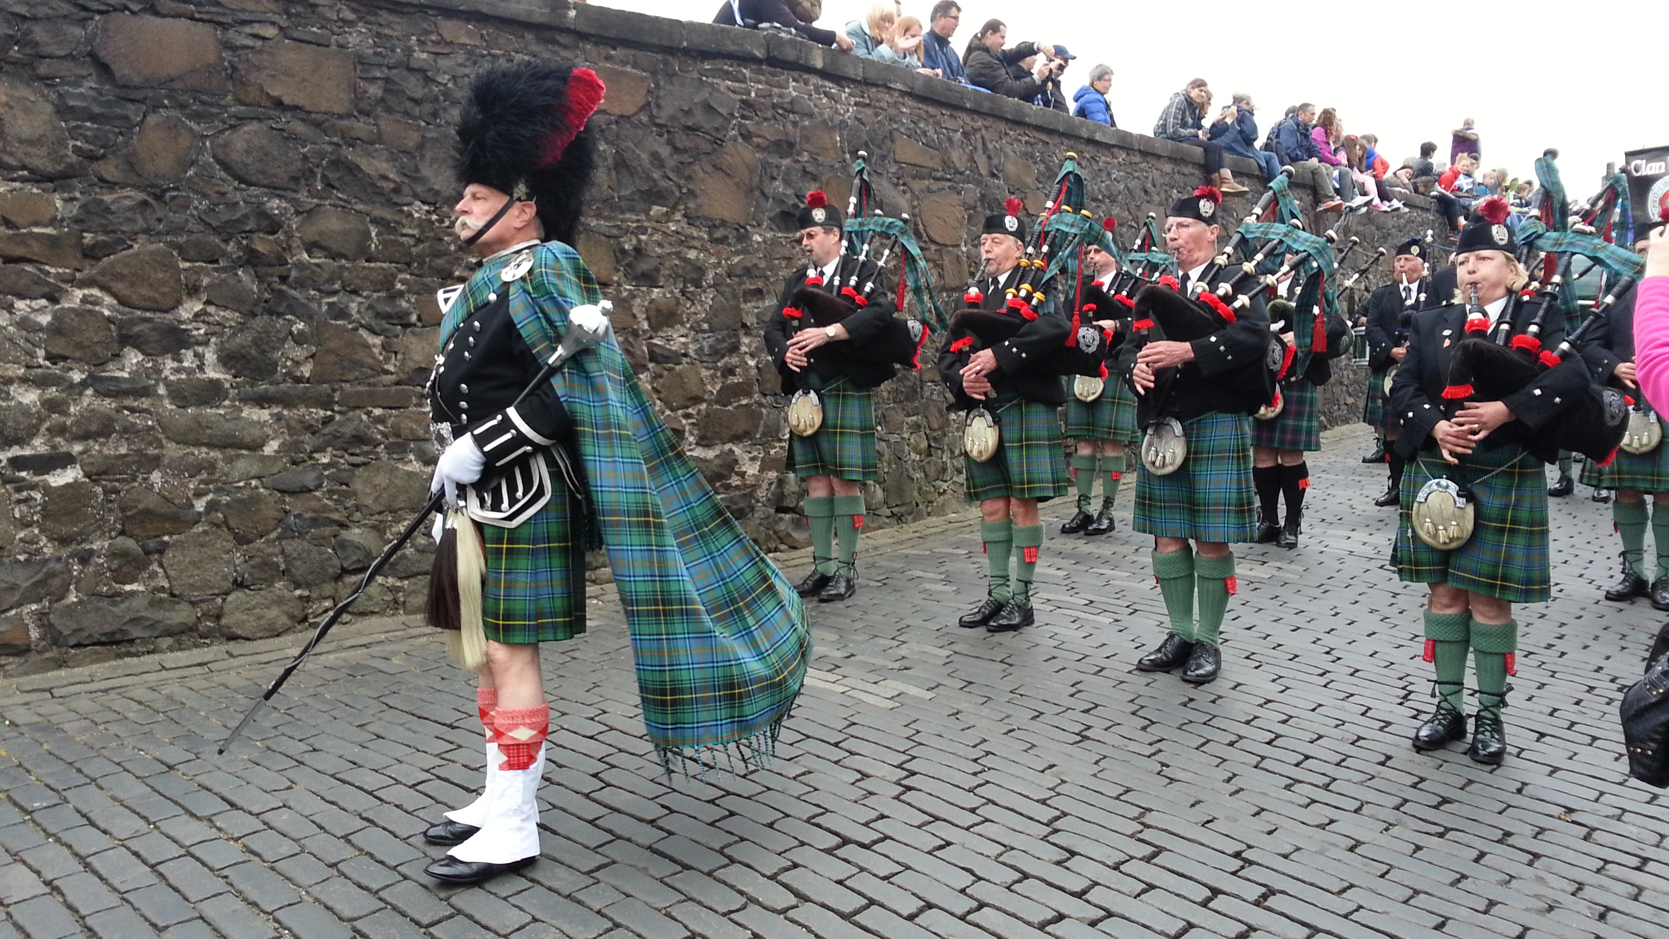
[[[1252,441],[1245,414],[1212,411],[1182,424],[1188,458],[1168,476],[1137,463],[1133,528],[1162,538],[1250,541],[1257,536]]]

